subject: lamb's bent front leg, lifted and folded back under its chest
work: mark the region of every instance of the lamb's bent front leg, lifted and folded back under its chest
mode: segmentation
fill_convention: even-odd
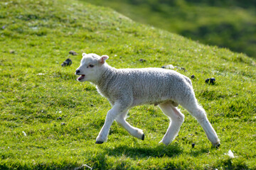
[[[119,125],[121,125],[129,134],[131,134],[134,137],[137,137],[139,140],[144,140],[144,133],[139,128],[134,128],[132,125],[127,123],[125,120],[125,117],[127,115],[127,112],[124,112],[117,116],[116,120]]]

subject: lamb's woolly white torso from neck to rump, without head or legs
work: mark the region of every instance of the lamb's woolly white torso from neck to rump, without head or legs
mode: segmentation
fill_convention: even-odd
[[[116,101],[129,107],[174,101],[174,106],[182,106],[194,99],[191,80],[169,69],[115,69],[105,63],[95,84],[112,105]]]

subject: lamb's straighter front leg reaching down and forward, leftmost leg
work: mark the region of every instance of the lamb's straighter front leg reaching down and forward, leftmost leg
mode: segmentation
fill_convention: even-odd
[[[113,108],[111,108],[110,111],[107,112],[105,123],[96,138],[96,144],[102,144],[103,142],[107,141],[107,135],[110,132],[110,126],[114,122],[114,119],[117,117],[117,115],[124,111],[122,108],[123,107],[121,106],[121,104],[115,103]]]

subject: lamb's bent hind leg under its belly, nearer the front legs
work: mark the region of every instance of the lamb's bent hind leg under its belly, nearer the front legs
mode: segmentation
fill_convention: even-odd
[[[163,111],[164,114],[167,115],[171,120],[166,134],[161,140],[161,142],[163,142],[165,145],[169,145],[169,143],[171,143],[178,135],[178,131],[181,128],[185,116],[178,111],[178,108],[174,107],[171,102],[161,103],[159,104],[159,107],[161,108],[161,111]]]

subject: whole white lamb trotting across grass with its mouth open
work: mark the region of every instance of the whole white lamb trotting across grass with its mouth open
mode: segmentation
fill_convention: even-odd
[[[112,105],[96,138],[96,144],[107,141],[114,120],[130,135],[144,140],[144,132],[127,123],[125,118],[129,108],[154,104],[171,120],[166,134],[160,141],[169,145],[178,135],[184,121],[183,113],[177,108],[179,104],[198,120],[213,146],[220,147],[220,140],[210,125],[206,112],[198,104],[188,77],[162,68],[115,69],[105,62],[108,58],[107,55],[100,57],[83,53],[80,67],[75,70],[75,74],[80,75],[78,81],[90,81],[95,84],[97,91]]]

